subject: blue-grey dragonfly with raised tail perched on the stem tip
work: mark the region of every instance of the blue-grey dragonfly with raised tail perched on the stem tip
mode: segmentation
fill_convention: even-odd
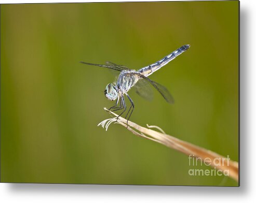
[[[178,55],[185,52],[188,48],[190,48],[190,45],[184,45],[179,49],[171,52],[169,55],[165,56],[163,59],[157,61],[156,63],[140,68],[139,70],[130,69],[124,65],[117,65],[112,62],[106,62],[106,65],[93,64],[82,61],[80,63],[92,66],[99,66],[103,68],[109,68],[119,72],[117,80],[114,83],[109,83],[106,85],[104,94],[107,99],[112,101],[116,100],[115,105],[108,109],[109,111],[112,109],[112,111],[122,110],[122,112],[118,115],[117,120],[127,110],[125,96],[128,98],[128,100],[130,101],[130,107],[125,116],[125,119],[127,119],[128,126],[128,121],[134,110],[134,103],[131,97],[128,95],[128,91],[133,86],[140,96],[149,100],[152,99],[153,95],[150,86],[153,86],[169,104],[173,104],[174,99],[171,96],[170,92],[167,90],[167,88],[149,79],[148,77],[155,71],[159,70],[161,67],[165,66],[170,61],[175,59]]]

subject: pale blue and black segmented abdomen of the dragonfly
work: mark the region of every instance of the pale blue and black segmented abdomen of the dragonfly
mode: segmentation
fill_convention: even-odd
[[[153,72],[159,70],[161,67],[168,64],[170,61],[175,59],[178,55],[182,54],[188,48],[190,48],[190,45],[184,45],[184,46],[180,47],[179,49],[171,52],[169,55],[165,56],[163,59],[159,60],[158,62],[139,69],[138,72],[140,72],[140,74],[142,74],[146,77],[150,76],[151,74],[153,74]]]

